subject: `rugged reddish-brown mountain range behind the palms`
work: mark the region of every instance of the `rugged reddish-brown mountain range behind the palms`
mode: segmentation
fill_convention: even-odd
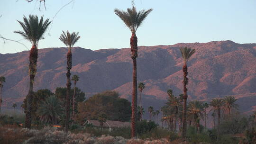
[[[188,62],[188,100],[210,101],[233,95],[240,110],[256,108],[256,44],[232,41],[179,43],[176,45],[139,46],[137,79],[144,82],[143,105],[159,109],[166,102],[168,89],[182,93],[183,59],[179,47],[192,47],[196,53]],[[34,90],[65,87],[67,49],[39,49]],[[130,49],[92,51],[74,47],[72,74],[80,81],[77,87],[87,96],[103,90],[116,90],[122,98],[131,99],[132,59]],[[4,106],[19,104],[28,92],[28,51],[0,54],[0,75],[6,77],[3,87]],[[72,85],[73,86],[73,85]]]

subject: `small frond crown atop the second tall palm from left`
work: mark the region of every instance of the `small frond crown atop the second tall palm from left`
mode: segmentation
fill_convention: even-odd
[[[66,33],[62,31],[63,34],[60,36],[60,40],[68,47],[71,48],[73,45],[79,40],[80,36],[78,36],[79,32],[72,34],[67,31]]]

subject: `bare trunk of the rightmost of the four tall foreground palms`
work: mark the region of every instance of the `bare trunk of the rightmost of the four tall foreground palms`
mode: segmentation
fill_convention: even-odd
[[[183,117],[182,117],[182,137],[185,138],[186,137],[186,128],[187,128],[187,88],[186,85],[188,83],[188,79],[187,79],[187,75],[188,75],[188,68],[187,68],[187,64],[184,63],[183,65]]]

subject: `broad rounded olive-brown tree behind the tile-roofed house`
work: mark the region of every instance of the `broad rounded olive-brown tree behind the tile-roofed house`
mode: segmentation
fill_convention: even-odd
[[[119,98],[116,91],[104,91],[93,95],[78,104],[77,121],[83,123],[86,119],[98,119],[101,113],[109,120],[129,121],[131,117],[131,103],[127,99]]]

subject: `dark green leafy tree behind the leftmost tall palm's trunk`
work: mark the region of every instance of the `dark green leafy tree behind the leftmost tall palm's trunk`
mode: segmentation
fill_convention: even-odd
[[[39,116],[37,115],[37,109],[39,107],[39,104],[51,95],[54,95],[54,93],[52,93],[48,89],[37,90],[37,92],[33,92],[33,100],[31,103],[31,118],[36,123],[38,123],[40,120]],[[25,113],[27,110],[27,97],[23,99],[23,104],[21,105],[21,107],[24,109]]]

